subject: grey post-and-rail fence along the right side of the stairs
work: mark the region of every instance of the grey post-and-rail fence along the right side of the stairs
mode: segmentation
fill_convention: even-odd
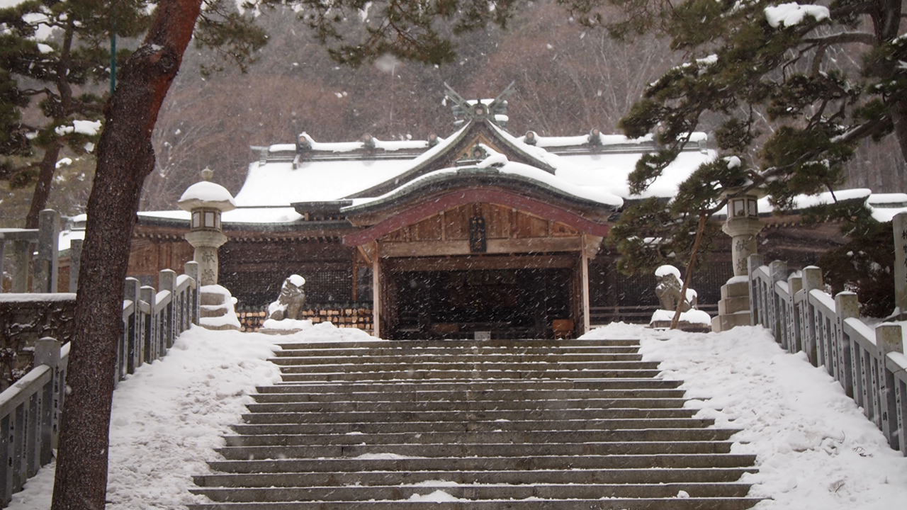
[[[788,352],[803,350],[834,377],[892,448],[907,456],[907,357],[901,326],[874,329],[858,319],[853,292],[824,292],[822,270],[788,275],[785,262],[748,260],[752,323],[764,326]]]

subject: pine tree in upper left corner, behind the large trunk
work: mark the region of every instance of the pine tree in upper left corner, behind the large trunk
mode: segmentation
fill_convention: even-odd
[[[26,228],[37,227],[61,152],[93,151],[105,99],[99,91],[111,74],[110,37],[140,34],[148,4],[29,0],[0,9],[0,179],[34,185]],[[24,121],[29,108],[39,113],[30,115],[34,123]]]

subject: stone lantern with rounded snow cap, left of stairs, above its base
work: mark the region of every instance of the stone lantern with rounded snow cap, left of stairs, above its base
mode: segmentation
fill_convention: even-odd
[[[226,188],[209,181],[209,169],[202,171],[205,181],[192,184],[182,193],[177,204],[190,211],[190,230],[185,238],[195,249],[194,260],[199,263],[201,285],[218,283],[218,249],[227,242],[220,227],[220,214],[236,209],[233,196]]]

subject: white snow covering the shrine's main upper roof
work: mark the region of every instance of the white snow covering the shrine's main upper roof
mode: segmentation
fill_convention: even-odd
[[[619,207],[621,199],[641,198],[629,193],[627,177],[635,168],[639,158],[655,149],[650,137],[628,139],[623,135],[600,135],[600,143],[590,144],[589,135],[574,137],[538,137],[535,144],[524,142],[524,136],[515,137],[500,127],[489,124],[502,140],[512,144],[542,166],[554,170],[544,172],[530,165],[507,162],[503,173],[519,173],[523,178],[538,181],[539,184],[562,191],[584,200],[599,201],[612,207]],[[242,188],[236,195],[240,207],[281,206],[307,201],[336,201],[359,196],[356,205],[375,201],[388,191],[362,196],[357,193],[380,184],[392,183],[393,188],[410,185],[425,175],[411,172],[431,162],[439,154],[460,142],[469,125],[463,126],[447,138],[438,139],[432,147],[427,142],[398,142],[406,149],[424,147],[424,152],[408,159],[375,159],[363,153],[362,142],[324,143],[310,140],[313,151],[332,152],[332,157],[295,158],[294,144],[271,145],[265,161],[252,162]],[[705,140],[705,135],[696,133],[694,142]],[[584,149],[583,149],[584,148]],[[629,148],[629,149],[628,149]],[[661,179],[656,181],[642,197],[670,197],[677,193],[678,184],[687,178],[700,164],[716,157],[716,152],[698,149],[682,152],[678,160],[668,166]],[[582,149],[582,150],[580,150]],[[391,149],[393,150],[393,149]],[[283,151],[283,154],[278,152]],[[287,152],[294,152],[288,154]],[[346,153],[347,157],[336,157]],[[537,171],[537,172],[536,172]],[[455,169],[440,168],[430,171],[437,177]],[[544,174],[544,175],[543,175]],[[399,180],[399,181],[398,181]],[[228,221],[224,216],[224,221]]]

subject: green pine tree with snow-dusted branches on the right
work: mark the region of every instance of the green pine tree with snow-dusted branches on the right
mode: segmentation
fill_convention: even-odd
[[[840,184],[844,165],[864,140],[893,133],[907,156],[901,0],[836,0],[828,6],[607,0],[621,14],[617,18],[601,15],[599,0],[565,3],[587,25],[630,43],[634,34],[666,34],[672,49],[689,55],[687,64],[650,83],[620,121],[629,136],[651,132],[661,146],[639,161],[630,191],[645,191],[703,124],[717,126],[724,157],[694,172],[658,214],[647,216],[651,204],[624,214],[615,234],[628,238],[618,242],[629,260],[622,262],[625,270],[639,260],[654,264],[659,251],[688,252],[688,218],[720,211],[730,194],[759,189],[785,209],[799,194]],[[844,56],[862,59],[862,65],[841,65]],[[642,246],[647,236],[657,237],[658,247]],[[639,258],[643,248],[649,257]]]

